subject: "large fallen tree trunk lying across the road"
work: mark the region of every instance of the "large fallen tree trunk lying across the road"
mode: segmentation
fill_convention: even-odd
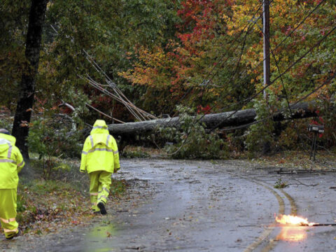
[[[291,118],[309,118],[316,116],[314,104],[302,102],[291,106],[293,115]],[[233,115],[232,115],[233,113]],[[231,116],[232,115],[232,116]],[[205,115],[201,122],[204,123],[207,129],[235,127],[239,125],[246,125],[255,122],[257,113],[255,109],[245,109],[241,111],[230,111],[224,113],[214,113]],[[283,113],[274,113],[273,120],[285,120]],[[148,134],[155,131],[158,127],[179,127],[180,118],[162,118],[156,120],[148,120],[137,123],[113,124],[109,125],[109,132],[112,135],[132,135]]]

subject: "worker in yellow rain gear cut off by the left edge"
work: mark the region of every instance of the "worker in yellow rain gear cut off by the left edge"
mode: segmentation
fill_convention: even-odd
[[[0,221],[6,239],[20,235],[16,218],[16,193],[18,173],[25,166],[22,155],[15,146],[15,137],[0,129]]]

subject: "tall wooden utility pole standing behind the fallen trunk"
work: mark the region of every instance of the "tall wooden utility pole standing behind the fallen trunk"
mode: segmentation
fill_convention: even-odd
[[[269,0],[264,0],[262,6],[262,23],[264,32],[264,87],[270,83],[270,56],[269,56]],[[267,93],[264,90],[264,99]]]

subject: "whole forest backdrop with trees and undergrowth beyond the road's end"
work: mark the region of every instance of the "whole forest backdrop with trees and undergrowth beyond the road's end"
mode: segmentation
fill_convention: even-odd
[[[29,69],[31,2],[4,0],[0,6],[0,106],[6,115],[0,126],[9,130]],[[29,151],[79,156],[78,143],[97,118],[109,124],[137,121],[90,79],[105,90],[116,85],[153,116],[183,118],[181,129],[163,127],[126,144],[165,148],[174,158],[253,157],[265,151],[265,143],[271,152],[307,151],[307,126],[314,123],[325,126],[318,145],[332,151],[335,2],[270,1],[271,83],[264,95],[262,1],[45,1],[32,118],[20,124],[29,129]],[[288,104],[297,102],[312,102],[316,117],[292,120]],[[260,123],[209,130],[199,120],[249,108],[256,109]],[[279,111],[286,120],[274,123],[272,114]]]

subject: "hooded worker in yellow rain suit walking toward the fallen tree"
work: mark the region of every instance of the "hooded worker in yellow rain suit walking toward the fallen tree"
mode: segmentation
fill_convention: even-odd
[[[107,130],[104,120],[96,120],[85,139],[80,172],[90,177],[90,200],[94,214],[107,214],[106,201],[111,186],[111,175],[120,169],[116,139]]]

